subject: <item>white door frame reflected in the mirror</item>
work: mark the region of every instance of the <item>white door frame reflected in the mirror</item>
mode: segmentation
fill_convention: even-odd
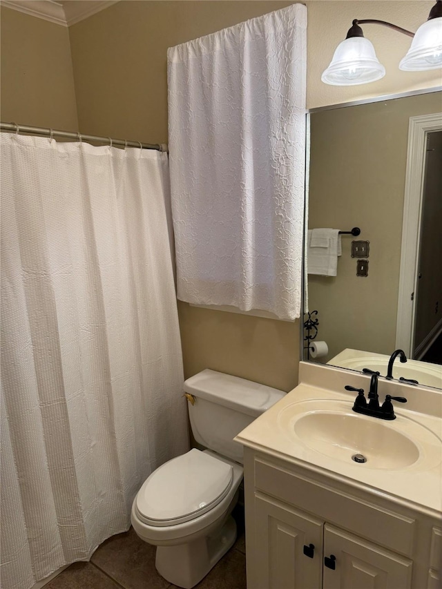
[[[425,144],[427,133],[430,131],[442,131],[442,113],[410,117],[396,319],[396,349],[403,349],[407,357],[412,354],[416,307],[414,300],[412,300],[412,293],[416,293],[416,264],[419,260]]]

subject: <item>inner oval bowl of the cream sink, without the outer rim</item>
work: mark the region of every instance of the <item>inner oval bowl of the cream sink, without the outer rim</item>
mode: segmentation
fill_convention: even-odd
[[[401,468],[419,458],[419,448],[407,436],[382,421],[368,421],[357,414],[307,413],[294,425],[296,436],[317,452],[349,460],[362,454],[372,468]]]

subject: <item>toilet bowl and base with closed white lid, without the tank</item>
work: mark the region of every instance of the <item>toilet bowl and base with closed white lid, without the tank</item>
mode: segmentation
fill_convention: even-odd
[[[242,466],[205,450],[173,458],[148,477],[132,506],[137,535],[157,546],[155,566],[167,581],[191,589],[236,540],[230,514]]]

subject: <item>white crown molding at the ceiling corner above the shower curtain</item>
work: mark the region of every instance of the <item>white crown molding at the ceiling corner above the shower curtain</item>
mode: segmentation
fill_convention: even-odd
[[[119,0],[1,0],[1,6],[18,10],[26,15],[69,27],[79,23]]]

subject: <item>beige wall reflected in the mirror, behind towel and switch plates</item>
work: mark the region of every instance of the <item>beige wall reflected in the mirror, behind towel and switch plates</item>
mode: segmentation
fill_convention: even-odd
[[[338,276],[309,276],[323,361],[346,347],[394,350],[408,123],[441,110],[439,92],[311,115],[309,227],[361,228],[342,237]],[[369,240],[367,278],[356,276],[352,240]]]

